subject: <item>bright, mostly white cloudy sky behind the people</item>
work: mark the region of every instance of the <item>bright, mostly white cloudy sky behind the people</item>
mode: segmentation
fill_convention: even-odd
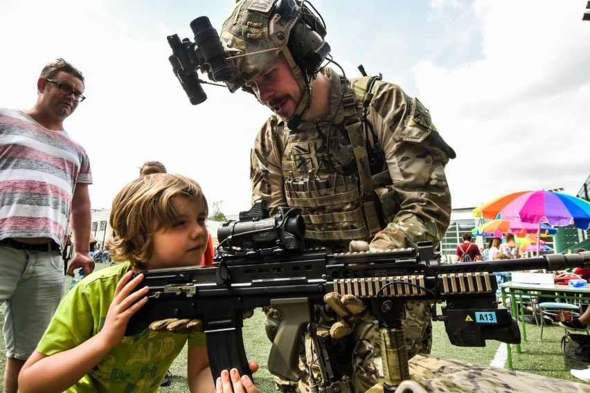
[[[0,0],[0,107],[28,109],[43,66],[63,57],[86,77],[66,131],[89,154],[94,209],[161,161],[197,180],[226,215],[249,210],[249,153],[269,109],[204,86],[188,101],[166,37],[217,30],[233,0]],[[457,158],[453,208],[521,190],[575,195],[590,174],[590,21],[586,0],[316,0],[347,77],[382,73],[430,111]]]

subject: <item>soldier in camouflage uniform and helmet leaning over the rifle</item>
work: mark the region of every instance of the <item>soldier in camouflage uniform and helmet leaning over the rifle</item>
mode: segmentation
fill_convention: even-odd
[[[324,36],[320,17],[288,1],[240,1],[224,21],[220,39],[236,71],[227,86],[253,93],[274,112],[251,151],[252,200],[265,199],[271,214],[280,206],[301,208],[306,246],[436,246],[449,225],[444,168],[453,149],[428,109],[399,86],[321,67],[330,51]],[[338,296],[327,301],[342,309]],[[266,312],[272,336],[280,315]],[[408,302],[403,325],[410,356],[428,354],[430,305]],[[356,392],[383,378],[376,331],[370,318],[354,329],[346,322],[331,329],[334,338],[352,332],[348,369]]]

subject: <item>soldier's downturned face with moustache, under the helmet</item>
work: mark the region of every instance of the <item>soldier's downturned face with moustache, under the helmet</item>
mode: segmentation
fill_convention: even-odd
[[[278,55],[246,83],[262,104],[274,111],[283,120],[289,120],[301,100],[301,89],[289,67],[289,63]]]

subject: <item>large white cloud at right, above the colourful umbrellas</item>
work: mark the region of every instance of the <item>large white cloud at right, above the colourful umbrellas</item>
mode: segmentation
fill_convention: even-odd
[[[590,24],[581,20],[583,2],[474,7],[483,58],[414,68],[420,96],[458,155],[447,167],[454,206],[527,189],[575,194],[590,170]]]

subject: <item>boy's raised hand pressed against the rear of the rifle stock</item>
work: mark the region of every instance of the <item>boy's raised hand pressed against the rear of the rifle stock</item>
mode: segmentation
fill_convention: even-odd
[[[133,292],[137,284],[143,280],[143,274],[139,274],[129,281],[132,274],[131,271],[128,271],[118,282],[115,289],[115,298],[107,312],[105,326],[100,331],[100,334],[107,339],[112,347],[123,340],[129,318],[147,302],[147,296],[145,295],[149,291],[149,287],[145,286]]]

